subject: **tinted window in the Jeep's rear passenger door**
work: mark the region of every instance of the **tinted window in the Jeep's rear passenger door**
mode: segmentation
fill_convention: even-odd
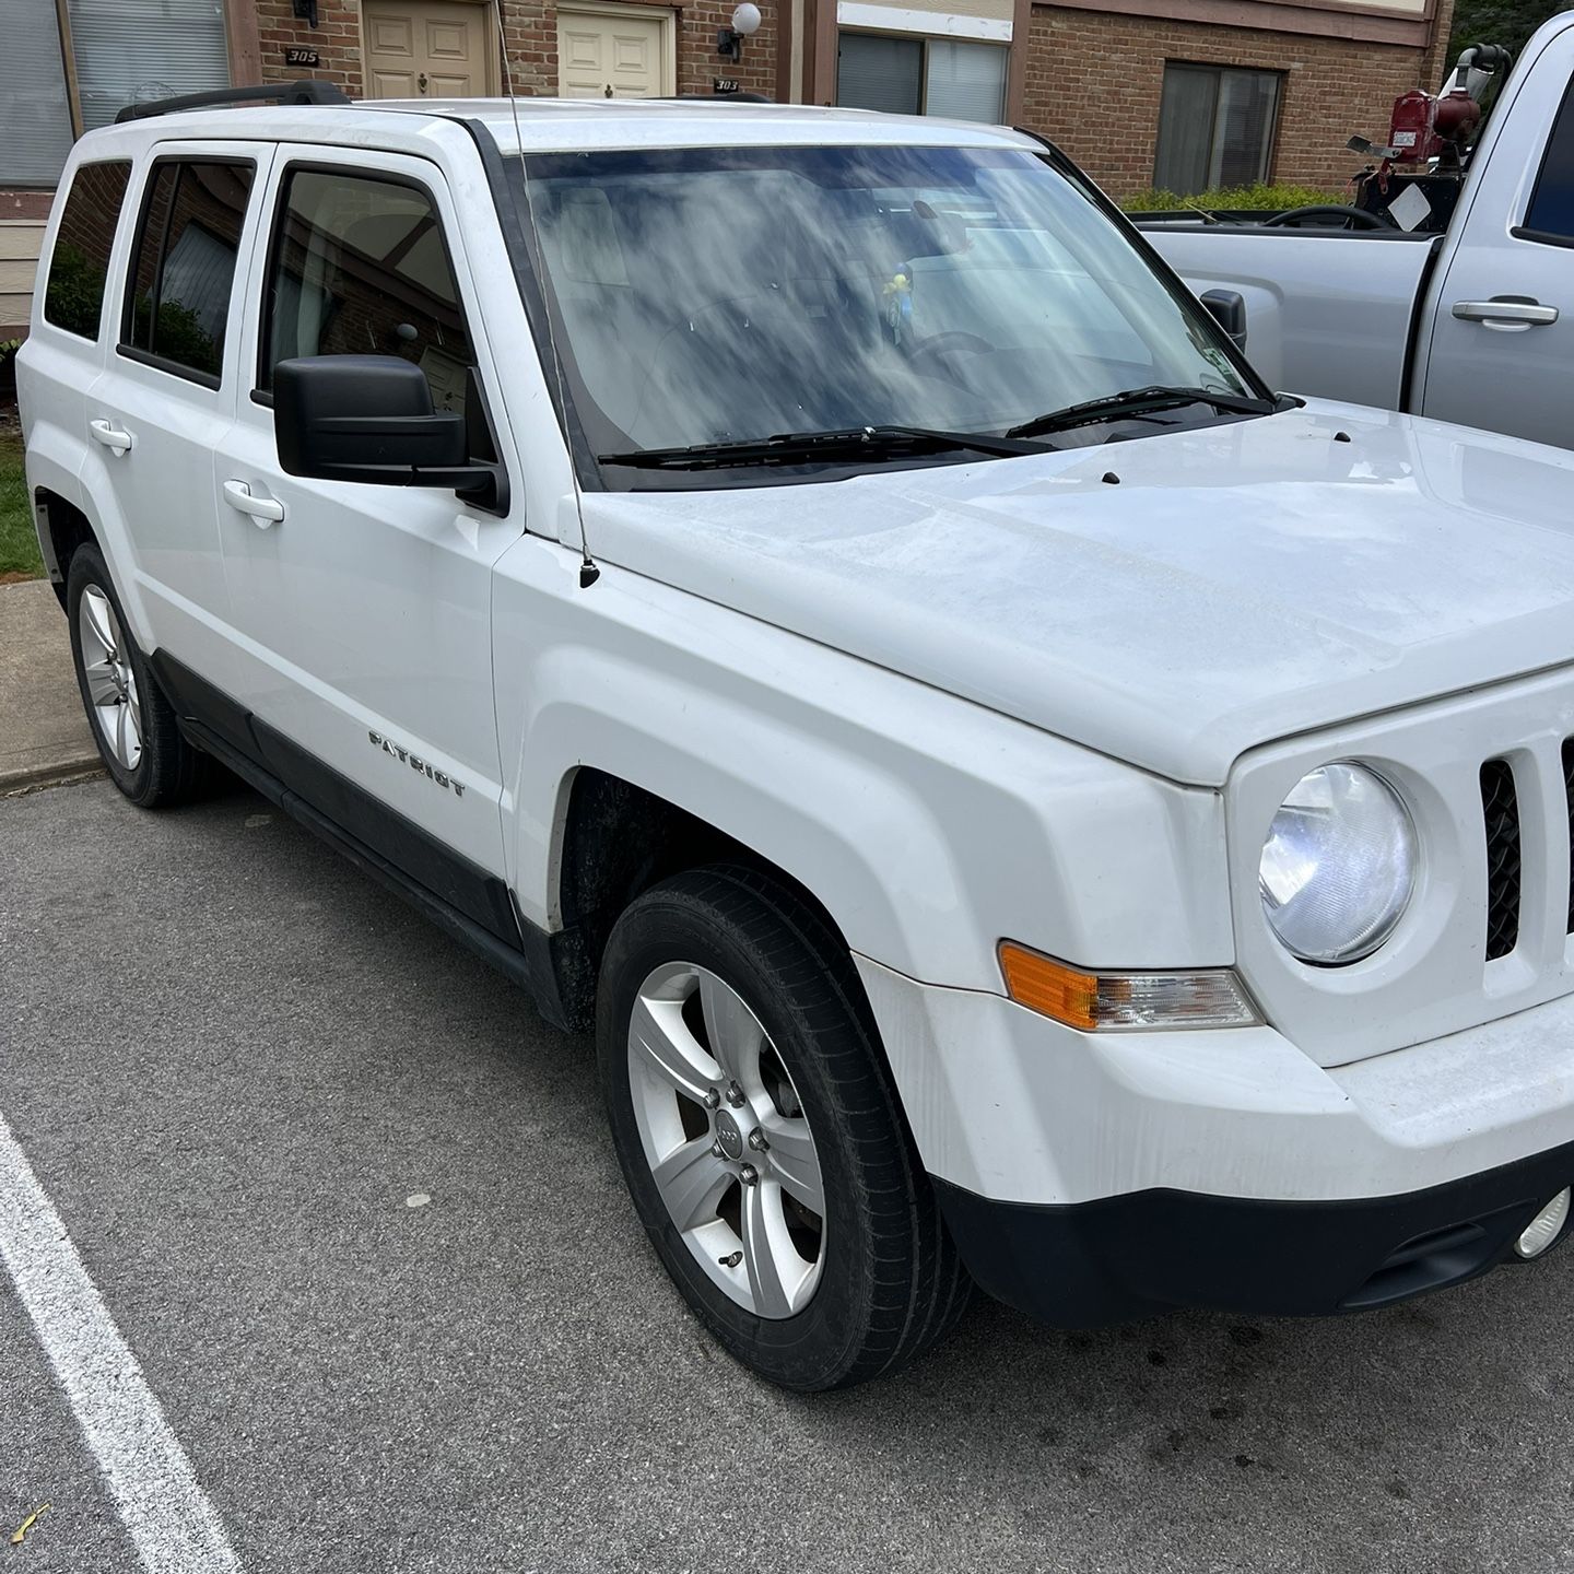
[[[217,381],[252,165],[167,159],[153,170],[131,272],[124,342]]]

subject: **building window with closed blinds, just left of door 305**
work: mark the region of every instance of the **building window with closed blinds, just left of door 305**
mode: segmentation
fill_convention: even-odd
[[[85,131],[127,104],[230,85],[219,0],[68,0],[68,11]]]

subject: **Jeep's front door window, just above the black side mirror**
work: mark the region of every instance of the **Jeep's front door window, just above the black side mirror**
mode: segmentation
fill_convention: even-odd
[[[296,356],[403,356],[438,409],[475,364],[431,198],[373,175],[291,170],[274,222],[260,386]]]

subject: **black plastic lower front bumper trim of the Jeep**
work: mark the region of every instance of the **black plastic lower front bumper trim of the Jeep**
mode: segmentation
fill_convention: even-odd
[[[1571,1182],[1574,1143],[1424,1192],[1330,1203],[1152,1190],[1033,1206],[935,1188],[982,1289],[1056,1327],[1091,1328],[1173,1306],[1365,1311],[1459,1284],[1511,1256]]]

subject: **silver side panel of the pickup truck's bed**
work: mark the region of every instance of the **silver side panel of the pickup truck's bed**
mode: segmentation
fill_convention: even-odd
[[[1275,389],[1404,408],[1417,301],[1440,235],[1144,220],[1201,294],[1239,290],[1247,354]]]

